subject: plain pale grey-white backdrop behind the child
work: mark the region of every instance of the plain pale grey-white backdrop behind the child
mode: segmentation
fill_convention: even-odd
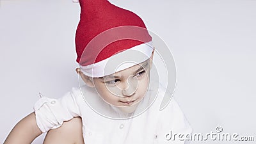
[[[221,125],[223,132],[256,141],[256,1],[111,2],[140,15],[170,47],[177,65],[175,98],[193,132],[215,132]],[[71,0],[0,4],[1,143],[33,111],[38,92],[58,98],[78,86],[74,35],[80,8]]]

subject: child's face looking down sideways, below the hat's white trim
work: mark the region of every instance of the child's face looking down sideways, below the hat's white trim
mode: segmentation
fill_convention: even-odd
[[[121,109],[131,113],[147,92],[151,65],[152,60],[148,59],[109,76],[92,78],[79,74],[88,86],[96,88],[102,99],[113,106],[130,107],[132,109]]]

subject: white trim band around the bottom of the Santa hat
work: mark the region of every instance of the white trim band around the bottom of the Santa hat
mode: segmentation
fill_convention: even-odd
[[[154,48],[152,46],[152,41],[150,41],[145,44],[136,45],[131,49],[119,52],[110,58],[99,61],[98,63],[93,63],[87,66],[79,66],[81,71],[86,76],[108,76],[148,60],[148,58],[150,58],[152,55],[153,50]]]

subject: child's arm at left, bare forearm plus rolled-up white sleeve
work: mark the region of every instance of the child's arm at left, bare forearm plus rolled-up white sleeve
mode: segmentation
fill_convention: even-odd
[[[66,93],[60,99],[40,98],[34,106],[35,112],[15,125],[4,144],[31,143],[42,132],[56,129],[63,122],[79,116],[80,111],[76,99],[83,99],[83,95],[79,92],[80,89],[77,88]]]

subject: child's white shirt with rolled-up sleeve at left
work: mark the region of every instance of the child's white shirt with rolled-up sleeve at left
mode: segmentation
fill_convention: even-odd
[[[81,116],[86,144],[188,143],[189,141],[180,141],[177,138],[175,141],[166,140],[166,134],[170,131],[177,134],[191,134],[192,129],[175,99],[172,98],[166,108],[159,110],[166,89],[161,84],[159,88],[153,85],[150,84],[147,93],[157,92],[156,99],[152,101],[152,97],[148,98],[146,95],[145,99],[151,101],[144,100],[144,102],[153,102],[152,105],[141,115],[133,118],[120,120],[108,118],[106,111],[112,110],[113,113],[118,114],[118,110],[106,104],[99,96],[95,96],[93,88],[82,86],[81,89],[72,88],[71,92],[60,99],[42,97],[38,100],[34,106],[36,123],[42,132],[47,132],[49,129],[60,127],[64,121],[74,116]],[[85,92],[86,96],[82,92]],[[84,97],[85,99],[91,97],[93,102],[98,102],[97,106],[88,102],[90,100],[84,100]],[[99,112],[100,109],[107,109],[106,113],[102,112],[107,116],[99,115],[97,111]]]

